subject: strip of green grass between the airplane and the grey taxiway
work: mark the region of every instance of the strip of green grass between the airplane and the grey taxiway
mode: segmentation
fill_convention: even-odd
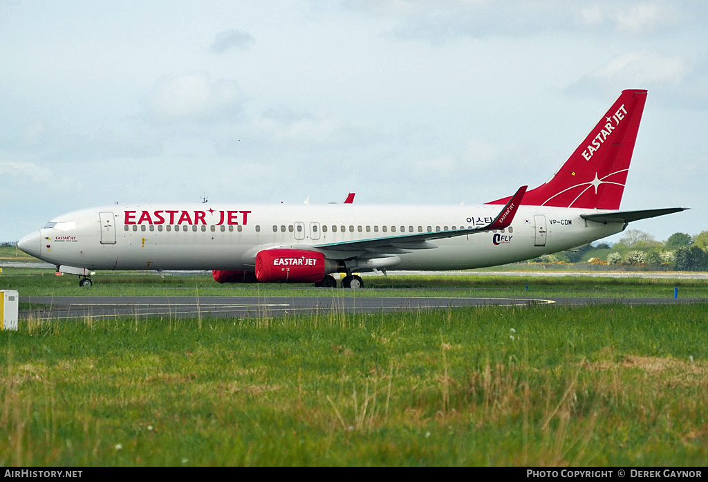
[[[670,298],[674,287],[684,298],[708,298],[708,280],[664,280],[595,277],[506,277],[486,275],[367,276],[367,288],[317,289],[311,284],[219,285],[210,275],[165,276],[152,272],[98,272],[90,289],[80,288],[73,275],[51,270],[6,268],[0,289],[28,296],[333,296],[340,297],[593,297]],[[528,289],[527,289],[528,287]]]

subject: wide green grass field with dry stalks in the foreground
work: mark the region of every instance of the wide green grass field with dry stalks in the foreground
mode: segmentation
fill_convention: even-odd
[[[705,304],[0,333],[0,466],[703,466]]]

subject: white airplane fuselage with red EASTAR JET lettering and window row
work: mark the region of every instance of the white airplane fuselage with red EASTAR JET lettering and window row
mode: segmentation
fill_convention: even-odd
[[[58,266],[89,270],[253,270],[275,247],[333,252],[323,245],[448,231],[489,224],[499,205],[196,205],[110,206],[63,214],[21,248]],[[513,223],[401,249],[396,270],[461,270],[501,265],[582,246],[624,229],[586,222],[587,209],[521,206]],[[35,244],[36,243],[36,244]],[[436,246],[436,247],[435,247]],[[357,258],[364,250],[338,251]],[[367,255],[369,258],[372,256]],[[360,270],[366,270],[363,265]]]

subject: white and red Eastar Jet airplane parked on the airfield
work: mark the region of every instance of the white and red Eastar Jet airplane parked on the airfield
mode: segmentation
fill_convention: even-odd
[[[18,241],[79,276],[212,270],[217,282],[364,286],[360,272],[467,270],[537,258],[685,210],[622,211],[646,90],[624,90],[546,183],[474,206],[155,203],[62,214]],[[353,195],[351,195],[353,197]]]

